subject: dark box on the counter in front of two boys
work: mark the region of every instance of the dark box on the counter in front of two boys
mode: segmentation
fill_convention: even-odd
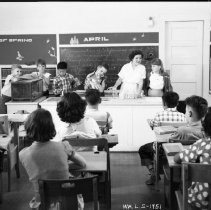
[[[35,101],[43,93],[42,79],[22,79],[11,83],[12,101]]]

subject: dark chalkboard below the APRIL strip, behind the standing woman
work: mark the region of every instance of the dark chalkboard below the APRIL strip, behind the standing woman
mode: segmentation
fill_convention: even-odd
[[[68,72],[84,83],[86,75],[96,70],[104,62],[109,65],[107,87],[114,85],[121,67],[129,62],[128,55],[133,50],[144,54],[143,64],[150,71],[150,61],[157,58],[158,46],[121,46],[121,47],[60,47],[60,61],[68,63]],[[80,89],[83,89],[81,85]]]

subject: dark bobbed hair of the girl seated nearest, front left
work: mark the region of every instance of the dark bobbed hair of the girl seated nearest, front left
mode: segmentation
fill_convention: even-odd
[[[56,135],[51,113],[45,109],[36,109],[27,118],[25,124],[27,138],[47,142]]]

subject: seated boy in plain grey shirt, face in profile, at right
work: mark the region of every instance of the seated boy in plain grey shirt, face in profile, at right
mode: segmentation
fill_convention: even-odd
[[[180,126],[169,140],[198,140],[203,138],[201,120],[208,110],[207,100],[200,96],[190,96],[185,99],[185,116],[188,124]]]

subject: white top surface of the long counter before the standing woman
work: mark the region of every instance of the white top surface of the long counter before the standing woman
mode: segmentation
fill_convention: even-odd
[[[42,101],[40,105],[55,105],[60,101],[60,97],[50,97]],[[101,105],[112,106],[160,106],[162,105],[161,97],[143,97],[138,99],[119,99],[118,97],[102,97]]]

